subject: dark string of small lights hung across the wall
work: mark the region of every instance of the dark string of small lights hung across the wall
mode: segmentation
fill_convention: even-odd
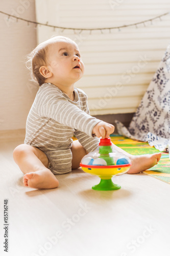
[[[54,31],[55,31],[55,29],[62,29],[62,32],[63,32],[65,29],[69,29],[69,30],[74,31],[75,34],[76,34],[76,30],[80,31],[79,34],[82,31],[89,31],[89,33],[91,34],[91,32],[94,31],[94,30],[99,30],[103,34],[103,30],[109,30],[109,33],[111,33],[111,29],[118,29],[118,31],[120,31],[120,28],[122,29],[122,28],[125,28],[125,27],[127,28],[127,27],[135,26],[136,28],[138,28],[137,25],[139,25],[139,24],[143,24],[143,26],[145,27],[145,23],[146,22],[151,22],[151,25],[153,25],[153,20],[154,19],[159,18],[160,20],[162,20],[161,19],[162,16],[165,16],[165,15],[169,14],[169,12],[166,12],[166,13],[158,15],[158,16],[152,18],[152,19],[146,19],[146,20],[143,20],[142,22],[133,23],[133,24],[129,24],[129,25],[123,25],[123,26],[117,26],[117,27],[109,27],[109,28],[90,28],[90,29],[88,29],[88,28],[69,28],[69,27],[66,28],[66,27],[54,26],[54,25],[49,25],[48,22],[46,22],[45,24],[44,23],[39,23],[39,22],[33,22],[32,20],[20,18],[20,17],[17,17],[15,15],[12,15],[12,14],[9,14],[9,13],[3,12],[3,11],[0,11],[0,13],[7,15],[8,16],[7,20],[9,20],[10,17],[13,17],[13,18],[16,18],[17,22],[18,22],[18,19],[23,20],[24,22],[27,22],[28,26],[30,25],[30,23],[35,24],[35,28],[37,28],[37,25],[39,25],[39,26],[42,25],[42,26],[46,26],[46,27],[52,27],[54,29]]]

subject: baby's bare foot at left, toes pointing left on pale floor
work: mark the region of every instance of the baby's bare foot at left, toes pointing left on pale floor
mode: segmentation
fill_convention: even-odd
[[[23,185],[34,188],[55,188],[59,182],[49,169],[37,170],[23,176]]]

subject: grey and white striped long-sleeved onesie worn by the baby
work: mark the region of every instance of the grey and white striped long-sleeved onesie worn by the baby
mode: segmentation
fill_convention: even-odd
[[[42,84],[27,118],[25,143],[46,154],[53,174],[71,172],[72,136],[88,152],[99,144],[92,130],[101,120],[90,116],[87,95],[78,88],[74,93],[72,101],[54,84]]]

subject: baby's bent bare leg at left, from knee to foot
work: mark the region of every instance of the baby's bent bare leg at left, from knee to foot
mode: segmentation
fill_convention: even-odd
[[[46,155],[34,146],[21,144],[13,152],[13,158],[21,169],[23,184],[34,188],[55,188],[59,182],[48,169]]]

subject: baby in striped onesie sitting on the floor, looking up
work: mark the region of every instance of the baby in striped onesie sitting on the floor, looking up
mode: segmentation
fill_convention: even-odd
[[[90,116],[87,95],[74,86],[84,74],[77,44],[56,36],[42,42],[29,55],[27,66],[39,90],[29,112],[25,144],[13,152],[23,184],[55,188],[56,174],[80,167],[81,159],[95,150],[99,138],[108,138],[114,126]],[[72,136],[78,140],[73,141]],[[129,174],[140,173],[158,163],[161,153],[133,156],[114,145],[132,162]]]

